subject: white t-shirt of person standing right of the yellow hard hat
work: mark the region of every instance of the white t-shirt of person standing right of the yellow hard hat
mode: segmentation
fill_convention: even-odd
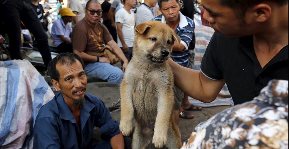
[[[85,6],[82,5],[80,0],[70,0],[69,1],[69,7],[71,9],[71,11],[76,11],[78,12],[76,17],[78,18],[78,21],[80,21],[81,19],[83,19],[85,17]],[[74,26],[75,23],[74,21],[72,21],[72,26]]]

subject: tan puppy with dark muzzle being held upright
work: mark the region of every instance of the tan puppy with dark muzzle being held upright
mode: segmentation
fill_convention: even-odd
[[[148,21],[135,27],[133,57],[120,85],[120,131],[135,131],[133,149],[153,143],[170,149],[181,147],[181,135],[174,121],[174,77],[166,61],[174,41],[180,38],[166,24]]]

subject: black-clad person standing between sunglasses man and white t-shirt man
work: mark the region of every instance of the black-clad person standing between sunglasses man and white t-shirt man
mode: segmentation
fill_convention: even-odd
[[[101,4],[101,9],[102,9],[102,18],[103,18],[103,24],[104,26],[108,29],[109,33],[112,35],[112,38],[115,42],[118,42],[118,37],[116,34],[115,28],[111,26],[111,18],[109,15],[109,8],[111,4],[109,3],[109,0],[105,0]]]

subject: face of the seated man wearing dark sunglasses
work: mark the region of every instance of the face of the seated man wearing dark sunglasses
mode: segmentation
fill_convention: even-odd
[[[101,19],[101,14],[98,15],[98,13],[94,13],[93,15],[91,15],[91,12],[93,11],[100,12],[102,10],[101,5],[95,2],[91,2],[87,9],[85,10],[85,19],[92,24],[98,23],[99,20]]]

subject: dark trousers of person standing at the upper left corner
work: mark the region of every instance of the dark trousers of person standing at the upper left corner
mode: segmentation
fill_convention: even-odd
[[[22,59],[20,53],[20,23],[22,21],[34,35],[43,62],[47,66],[51,61],[48,37],[30,4],[30,0],[7,0],[0,6],[0,9],[2,12],[1,15],[4,15],[4,24],[9,37],[9,53],[11,59]]]

